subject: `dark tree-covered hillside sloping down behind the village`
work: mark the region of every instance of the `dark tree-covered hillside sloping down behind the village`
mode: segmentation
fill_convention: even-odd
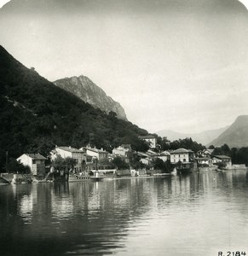
[[[0,168],[6,156],[48,155],[55,145],[90,143],[111,151],[121,143],[141,150],[147,131],[103,113],[27,68],[0,46]],[[8,154],[7,154],[8,152]]]

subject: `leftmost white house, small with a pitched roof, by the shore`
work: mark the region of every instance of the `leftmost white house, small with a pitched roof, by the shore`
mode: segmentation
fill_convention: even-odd
[[[22,154],[16,160],[24,166],[29,166],[35,176],[43,177],[45,175],[45,160],[41,154]]]

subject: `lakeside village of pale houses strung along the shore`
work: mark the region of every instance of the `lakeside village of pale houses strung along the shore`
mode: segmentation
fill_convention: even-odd
[[[140,139],[149,145],[147,152],[135,151],[130,144],[122,144],[113,148],[112,154],[104,148],[90,145],[82,148],[55,146],[47,157],[39,153],[25,153],[16,160],[26,166],[29,173],[2,173],[2,182],[99,181],[106,177],[161,177],[201,170],[246,170],[245,165],[232,165],[232,159],[227,155],[213,155],[213,148],[196,153],[188,148],[159,151],[157,137],[148,135]]]

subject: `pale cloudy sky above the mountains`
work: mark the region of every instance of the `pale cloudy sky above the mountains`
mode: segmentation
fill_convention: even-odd
[[[12,0],[0,27],[26,67],[50,81],[89,77],[149,132],[218,129],[248,114],[239,1]]]

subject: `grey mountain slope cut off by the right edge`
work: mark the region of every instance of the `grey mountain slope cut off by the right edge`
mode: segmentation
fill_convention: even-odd
[[[225,143],[229,148],[248,147],[248,115],[240,115],[226,131],[209,144],[222,146]]]

